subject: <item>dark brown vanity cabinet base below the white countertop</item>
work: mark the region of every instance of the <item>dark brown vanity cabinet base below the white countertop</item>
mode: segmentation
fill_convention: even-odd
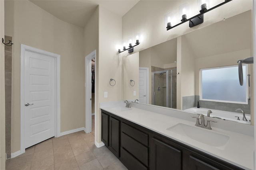
[[[102,110],[102,142],[129,170],[242,170]]]

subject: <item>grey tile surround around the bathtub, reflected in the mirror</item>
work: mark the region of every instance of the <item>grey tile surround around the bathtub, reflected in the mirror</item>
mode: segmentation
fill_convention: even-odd
[[[191,107],[196,107],[199,101],[199,106],[208,109],[216,109],[223,111],[236,112],[236,109],[243,109],[244,113],[250,114],[250,100],[248,104],[234,104],[234,103],[223,103],[223,102],[210,102],[199,100],[199,96],[183,96],[182,97],[182,109],[189,109]]]

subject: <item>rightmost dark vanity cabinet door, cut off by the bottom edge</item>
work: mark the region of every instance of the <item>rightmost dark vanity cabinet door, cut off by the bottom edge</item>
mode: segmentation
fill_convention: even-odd
[[[211,166],[210,164],[207,164],[206,162],[203,162],[191,155],[189,156],[189,165],[190,170],[218,170],[218,168],[215,168],[214,166]]]

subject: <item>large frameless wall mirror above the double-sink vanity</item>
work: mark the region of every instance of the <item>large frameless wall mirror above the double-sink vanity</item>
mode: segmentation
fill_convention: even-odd
[[[244,91],[241,98],[245,95],[246,101],[202,99],[200,95],[202,96],[202,86],[205,87],[201,82],[202,70],[209,69],[216,72],[214,69],[234,67],[237,70],[234,74],[238,74],[237,61],[251,56],[252,20],[251,11],[247,11],[140,51],[139,60],[134,60],[139,63],[124,63],[124,68],[133,68],[132,71],[134,72],[135,69],[137,72],[137,74],[132,74],[133,78],[128,79],[138,81],[138,86],[132,90],[124,86],[124,92],[126,92],[124,100],[138,99],[142,104],[181,109],[190,113],[200,113],[200,111],[207,113],[211,109],[213,110],[211,117],[250,124],[250,114],[253,113],[253,106],[251,106],[251,104],[253,105],[253,95],[250,94],[253,94],[254,90],[252,64],[244,66]],[[131,65],[128,66],[128,63]],[[127,79],[125,78],[128,75],[127,72],[129,70],[124,69],[124,80]],[[221,79],[224,74],[226,73],[222,69],[217,77]],[[227,90],[224,91],[232,89],[231,94],[237,94],[242,91],[239,87],[238,75],[237,77],[229,75],[231,73],[228,73],[228,77],[230,77],[228,83],[230,84],[222,83],[227,87]],[[235,80],[231,77],[235,77],[233,78]],[[213,75],[209,74],[207,80],[209,80],[208,84],[213,85],[217,92],[223,90],[216,88],[219,87],[215,84],[218,79]],[[128,95],[132,93],[134,95]],[[198,105],[201,110],[197,109]],[[248,121],[242,120],[241,109]],[[231,112],[234,114],[228,115]],[[222,113],[224,115],[221,115]]]

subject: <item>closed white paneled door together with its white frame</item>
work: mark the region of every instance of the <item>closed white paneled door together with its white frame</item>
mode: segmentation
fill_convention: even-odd
[[[60,55],[21,45],[20,59],[22,154],[26,148],[60,135]]]

